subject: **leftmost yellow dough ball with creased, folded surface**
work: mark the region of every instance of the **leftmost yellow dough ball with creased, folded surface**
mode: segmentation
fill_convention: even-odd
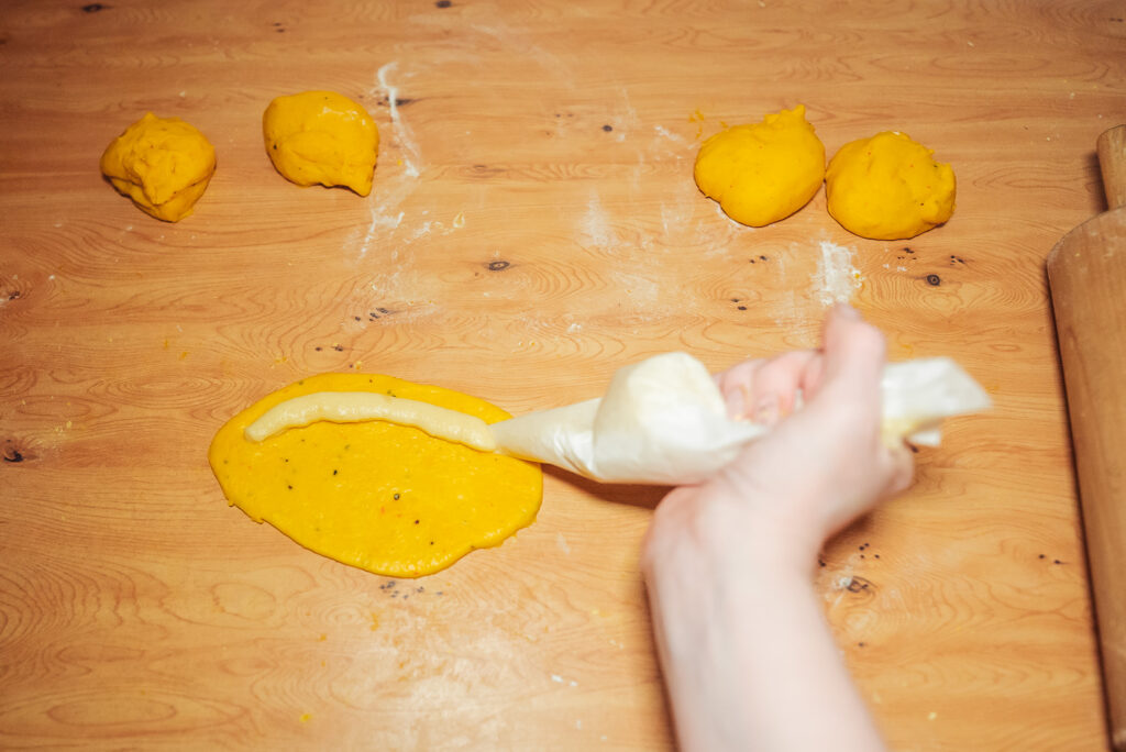
[[[179,222],[207,190],[215,147],[180,118],[145,113],[106,147],[101,173],[142,212]]]

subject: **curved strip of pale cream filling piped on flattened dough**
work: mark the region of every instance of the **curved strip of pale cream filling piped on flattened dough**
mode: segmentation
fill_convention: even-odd
[[[464,444],[481,451],[497,448],[489,424],[480,418],[429,402],[370,392],[316,392],[286,400],[266,411],[244,432],[251,441],[262,441],[286,429],[319,420],[334,423],[383,420],[411,426],[437,439]]]

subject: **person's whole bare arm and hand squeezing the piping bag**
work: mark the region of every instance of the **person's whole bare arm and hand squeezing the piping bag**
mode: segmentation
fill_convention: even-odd
[[[911,480],[910,453],[881,436],[883,366],[881,333],[838,306],[822,350],[717,377],[734,417],[774,429],[670,492],[643,547],[683,750],[884,749],[810,578],[825,538]]]

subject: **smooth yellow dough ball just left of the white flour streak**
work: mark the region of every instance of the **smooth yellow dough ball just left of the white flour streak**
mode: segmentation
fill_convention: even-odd
[[[379,131],[364,106],[333,91],[278,97],[262,115],[266,152],[298,186],[346,186],[372,193]]]

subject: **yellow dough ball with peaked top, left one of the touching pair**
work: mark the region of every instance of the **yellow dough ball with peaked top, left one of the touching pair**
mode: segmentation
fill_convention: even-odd
[[[825,177],[825,147],[798,105],[705,141],[694,176],[727,216],[761,227],[813,198]]]

